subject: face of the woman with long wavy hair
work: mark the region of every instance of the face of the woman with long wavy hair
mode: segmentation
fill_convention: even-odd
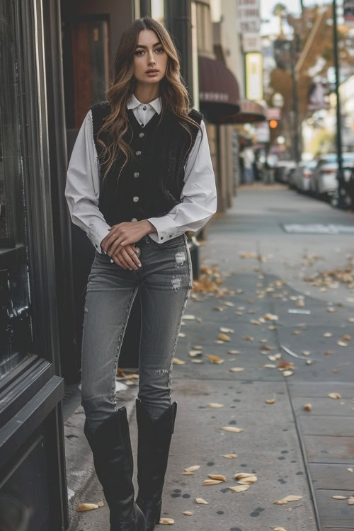
[[[152,30],[141,30],[134,53],[134,76],[138,83],[159,83],[166,74],[168,59],[156,33]]]

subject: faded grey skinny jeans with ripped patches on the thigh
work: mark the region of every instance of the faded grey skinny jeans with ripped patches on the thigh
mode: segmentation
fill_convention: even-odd
[[[171,405],[171,373],[190,290],[192,267],[185,234],[158,244],[149,235],[136,244],[139,270],[127,270],[98,253],[86,288],[81,404],[89,431],[116,411],[115,375],[132,303],[139,290],[139,399],[159,416]]]

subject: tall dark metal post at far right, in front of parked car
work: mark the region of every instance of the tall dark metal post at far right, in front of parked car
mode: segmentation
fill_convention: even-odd
[[[339,55],[338,55],[338,26],[337,26],[337,2],[333,0],[333,47],[334,68],[336,72],[336,97],[337,97],[337,153],[338,153],[338,207],[345,206],[346,188],[343,175],[342,156],[342,130],[341,130],[341,98],[339,96]]]

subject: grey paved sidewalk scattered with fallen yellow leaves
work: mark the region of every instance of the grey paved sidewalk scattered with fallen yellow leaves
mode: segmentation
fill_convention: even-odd
[[[353,234],[284,228],[353,223],[349,212],[257,184],[208,227],[173,365],[178,411],[161,518],[176,531],[354,530]],[[136,450],[137,379],[125,381],[118,405],[131,413]],[[79,406],[65,423],[70,531],[105,531],[106,504],[76,511],[103,499],[83,421]],[[189,467],[199,468],[183,474]],[[234,491],[241,473],[249,484]],[[294,501],[275,503],[287,496]]]

